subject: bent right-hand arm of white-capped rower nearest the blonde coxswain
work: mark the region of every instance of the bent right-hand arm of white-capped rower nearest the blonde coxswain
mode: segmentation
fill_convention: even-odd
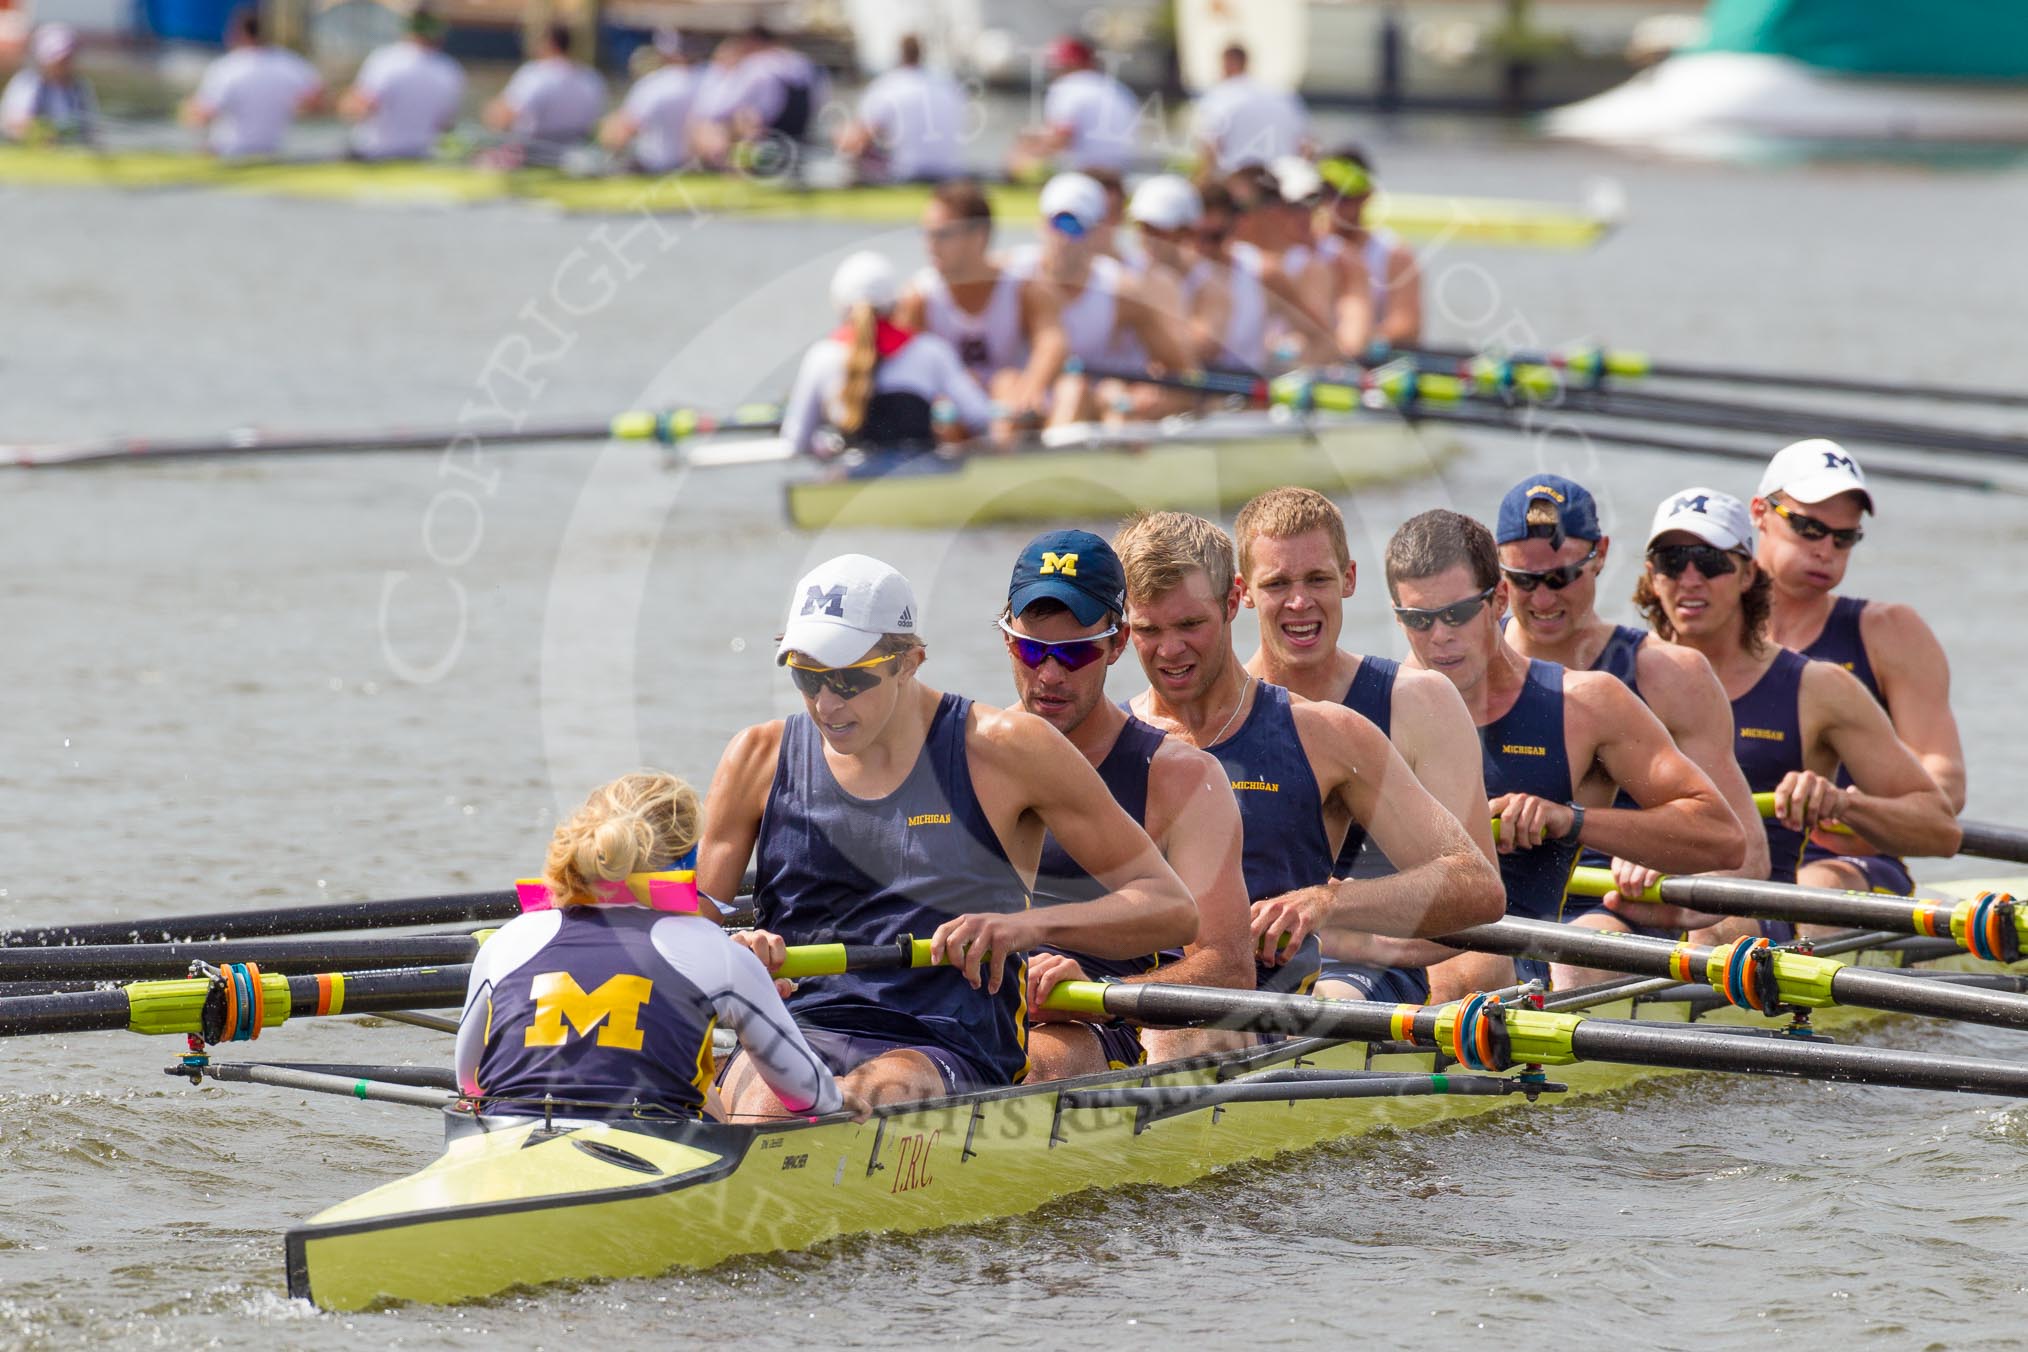
[[[973,705],[977,707],[977,705]],[[1091,957],[1140,957],[1197,938],[1197,902],[1138,821],[1061,732],[1032,713],[980,713],[969,742],[973,778],[1012,788],[1065,853],[1107,894],[1093,902],[1036,906],[1022,949],[1055,945]]]

